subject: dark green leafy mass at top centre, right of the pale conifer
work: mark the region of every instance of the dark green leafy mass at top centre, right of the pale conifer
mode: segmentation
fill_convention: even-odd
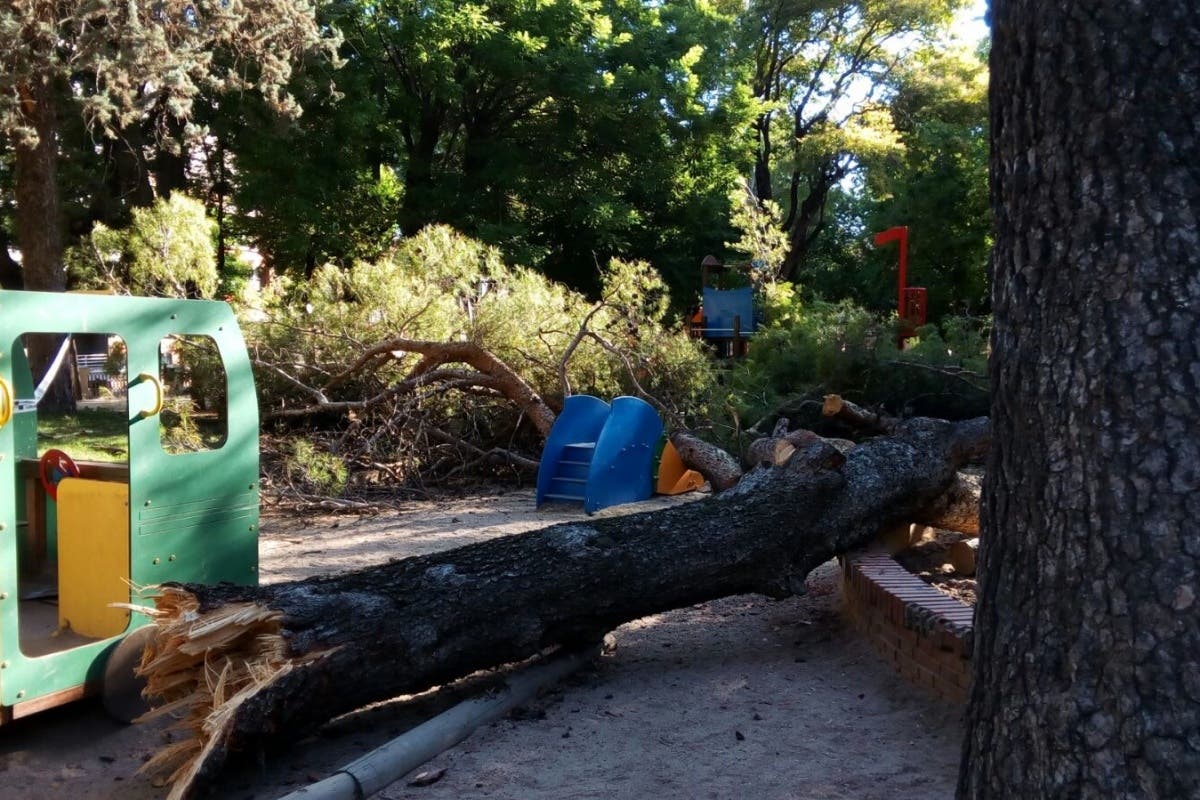
[[[227,102],[211,122],[238,154],[238,230],[276,270],[376,260],[430,223],[590,291],[612,257],[694,285],[720,249],[751,110],[728,4],[346,1],[328,20],[346,62],[294,82],[302,118]]]

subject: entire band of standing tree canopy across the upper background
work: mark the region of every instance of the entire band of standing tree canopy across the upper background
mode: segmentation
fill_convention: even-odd
[[[590,291],[610,258],[648,260],[684,305],[703,255],[738,258],[749,185],[779,205],[780,277],[884,308],[866,227],[904,219],[953,283],[936,311],[977,309],[986,223],[937,227],[983,175],[978,67],[935,56],[961,5],[22,0],[0,11],[0,227],[23,266],[0,272],[62,288],[94,224],[185,191],[218,269],[240,243],[311,276],[440,223]]]

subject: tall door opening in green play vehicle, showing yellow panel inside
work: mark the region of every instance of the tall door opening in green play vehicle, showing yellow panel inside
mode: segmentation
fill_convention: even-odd
[[[19,646],[44,656],[122,632],[128,602],[128,374],[112,333],[14,343]]]

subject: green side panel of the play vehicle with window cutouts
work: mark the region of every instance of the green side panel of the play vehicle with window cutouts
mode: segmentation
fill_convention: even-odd
[[[0,378],[19,398],[32,397],[24,333],[112,333],[125,341],[130,380],[130,577],[253,584],[258,581],[258,402],[246,343],[223,302],[77,294],[0,291]],[[167,336],[208,336],[228,381],[227,431],[216,450],[172,455],[162,449],[154,387],[158,343]],[[16,461],[36,457],[34,413],[0,428],[0,703],[12,705],[98,681],[116,638],[42,657],[19,649]],[[131,596],[131,602],[140,601]],[[145,603],[149,604],[149,603]],[[144,624],[133,615],[131,628]]]

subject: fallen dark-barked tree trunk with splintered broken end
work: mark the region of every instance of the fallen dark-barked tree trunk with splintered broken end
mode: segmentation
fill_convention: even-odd
[[[191,796],[229,753],[618,625],[738,594],[786,597],[810,570],[912,519],[988,437],[986,420],[912,420],[842,455],[668,510],[564,523],[332,577],[166,585],[142,672],[192,738],[151,763]]]

